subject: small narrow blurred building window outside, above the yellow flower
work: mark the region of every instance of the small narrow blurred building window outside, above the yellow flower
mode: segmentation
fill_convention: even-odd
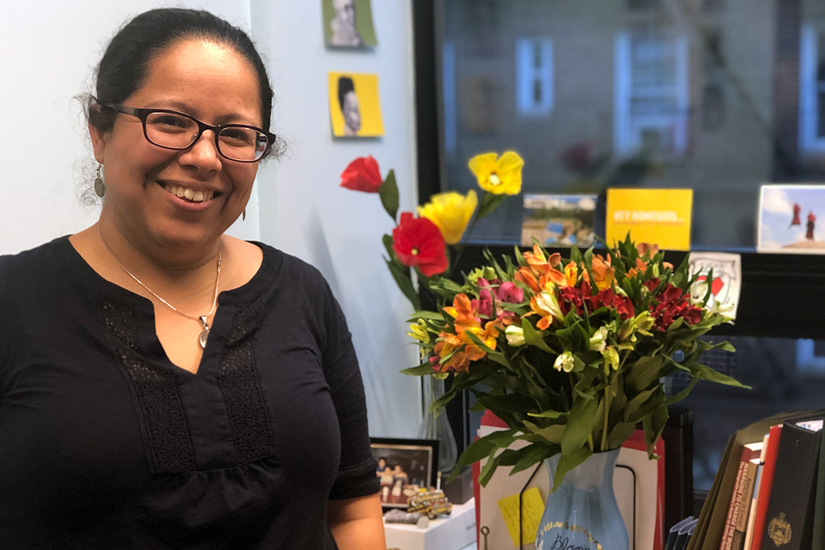
[[[553,42],[549,38],[516,40],[516,111],[549,115],[553,110]]]

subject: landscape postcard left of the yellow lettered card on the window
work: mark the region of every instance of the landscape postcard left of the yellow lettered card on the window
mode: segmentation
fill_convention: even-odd
[[[596,195],[524,195],[521,246],[588,248],[595,220]]]

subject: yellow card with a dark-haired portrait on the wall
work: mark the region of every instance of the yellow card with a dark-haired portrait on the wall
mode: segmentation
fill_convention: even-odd
[[[336,138],[384,135],[378,75],[329,73],[329,116]]]

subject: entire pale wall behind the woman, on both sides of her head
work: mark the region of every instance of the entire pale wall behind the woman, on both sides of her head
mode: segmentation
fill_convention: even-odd
[[[108,40],[130,16],[163,5],[203,7],[252,28],[269,59],[274,130],[290,149],[281,161],[262,167],[247,220],[235,223],[230,233],[268,242],[323,272],[347,314],[361,358],[372,435],[413,436],[420,418],[417,378],[398,374],[416,363],[403,336],[410,308],[381,260],[380,236],[393,223],[376,195],[337,186],[351,159],[371,154],[384,173],[395,168],[402,208],[415,204],[411,6],[373,2],[380,45],[351,53],[323,47],[320,2],[5,2],[0,254],[75,233],[97,219],[97,209],[77,200],[80,167],[92,157],[79,103],[72,98],[88,91]],[[332,141],[329,70],[380,75],[383,139]]]

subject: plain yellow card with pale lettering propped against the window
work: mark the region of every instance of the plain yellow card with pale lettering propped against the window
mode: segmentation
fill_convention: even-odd
[[[606,241],[627,233],[662,250],[691,250],[692,189],[608,189]]]

